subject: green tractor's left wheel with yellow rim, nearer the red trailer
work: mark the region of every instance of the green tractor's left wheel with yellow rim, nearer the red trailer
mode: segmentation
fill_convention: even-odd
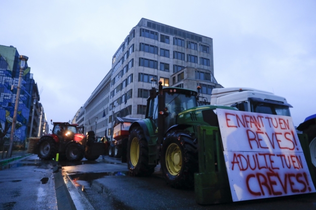
[[[132,176],[147,176],[155,171],[156,165],[148,165],[148,142],[140,127],[129,134],[127,143],[127,167]]]

